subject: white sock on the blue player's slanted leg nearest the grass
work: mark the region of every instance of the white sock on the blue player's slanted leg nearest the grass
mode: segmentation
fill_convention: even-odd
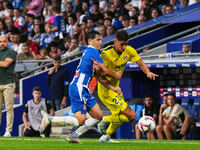
[[[76,129],[76,131],[74,131],[72,133],[72,137],[79,137],[81,136],[82,134],[84,134],[85,132],[87,132],[90,127],[96,125],[97,123],[99,123],[99,120],[96,120],[94,118],[88,118],[86,121],[85,121],[85,124],[80,126],[78,129]]]

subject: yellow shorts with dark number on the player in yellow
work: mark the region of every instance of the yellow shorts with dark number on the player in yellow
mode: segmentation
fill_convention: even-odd
[[[125,102],[123,94],[119,95],[112,90],[108,90],[105,95],[102,92],[98,93],[100,100],[112,114],[119,114],[120,111],[124,111],[127,108],[128,104]]]

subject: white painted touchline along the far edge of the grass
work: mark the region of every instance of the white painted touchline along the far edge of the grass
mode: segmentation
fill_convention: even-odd
[[[38,138],[38,139],[32,139],[32,138],[3,138],[0,137],[0,140],[5,140],[5,141],[44,141],[44,142],[49,142],[49,141],[56,141],[56,142],[65,142],[65,139],[48,139],[48,138]],[[80,139],[80,141],[89,141],[88,139]],[[188,145],[200,145],[200,142],[190,142],[190,141],[183,141],[183,142],[178,142],[178,141],[150,141],[150,140],[134,140],[134,141],[128,141],[128,140],[116,140],[119,141],[120,143],[147,143],[147,144],[188,144]],[[98,140],[95,140],[95,142],[98,142]]]

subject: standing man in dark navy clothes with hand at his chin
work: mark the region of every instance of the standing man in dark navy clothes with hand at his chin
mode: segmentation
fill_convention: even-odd
[[[48,85],[50,88],[50,103],[54,110],[60,110],[66,106],[68,95],[68,73],[61,66],[61,57],[53,57],[54,67],[48,72]]]

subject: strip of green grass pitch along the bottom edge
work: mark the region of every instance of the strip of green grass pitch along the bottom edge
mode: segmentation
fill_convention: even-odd
[[[118,139],[117,139],[118,140]],[[82,144],[69,144],[64,138],[0,138],[2,150],[200,150],[200,141],[127,140],[99,143],[98,139],[80,139]]]

